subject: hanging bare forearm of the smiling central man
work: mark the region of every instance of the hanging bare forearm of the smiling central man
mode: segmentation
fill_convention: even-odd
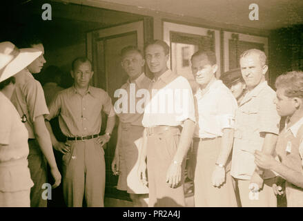
[[[190,143],[193,140],[193,133],[195,131],[195,122],[190,119],[186,119],[184,122],[184,128],[180,135],[179,144],[175,153],[174,161],[182,162],[187,155]]]

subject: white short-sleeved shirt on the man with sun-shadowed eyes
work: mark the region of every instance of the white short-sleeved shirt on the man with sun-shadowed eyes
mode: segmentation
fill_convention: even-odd
[[[215,80],[205,92],[199,88],[195,102],[198,122],[195,137],[220,137],[224,128],[234,127],[237,101],[221,80]]]

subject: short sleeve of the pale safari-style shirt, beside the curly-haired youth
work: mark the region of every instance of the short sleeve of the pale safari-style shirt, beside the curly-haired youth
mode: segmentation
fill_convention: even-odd
[[[275,93],[262,96],[260,100],[259,119],[260,133],[275,133],[279,134],[280,116],[275,108]]]

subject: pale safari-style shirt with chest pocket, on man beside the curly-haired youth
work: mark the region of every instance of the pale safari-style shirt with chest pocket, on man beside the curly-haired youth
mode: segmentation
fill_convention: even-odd
[[[275,109],[275,91],[267,81],[246,93],[235,114],[235,139],[231,175],[237,179],[250,180],[255,171],[255,150],[262,151],[263,133],[279,134],[280,116]],[[263,178],[275,177],[265,171]]]

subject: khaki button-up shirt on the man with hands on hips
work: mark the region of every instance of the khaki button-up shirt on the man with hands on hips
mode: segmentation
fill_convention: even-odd
[[[108,117],[115,116],[112,99],[101,88],[88,87],[86,94],[79,94],[74,86],[61,90],[50,102],[47,120],[59,116],[59,126],[66,137],[99,134],[101,111]]]

